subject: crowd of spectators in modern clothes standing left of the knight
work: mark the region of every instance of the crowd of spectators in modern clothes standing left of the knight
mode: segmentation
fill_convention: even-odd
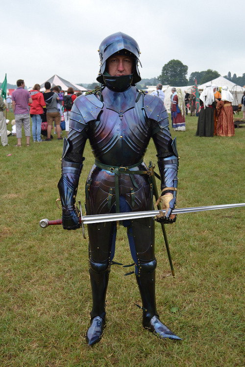
[[[29,92],[25,89],[25,81],[18,79],[17,89],[6,96],[7,112],[11,106],[15,119],[12,120],[12,135],[17,137],[16,147],[22,146],[22,126],[25,131],[26,146],[30,145],[32,134],[33,142],[51,141],[51,131],[54,122],[54,134],[57,134],[58,140],[63,140],[62,130],[69,131],[70,112],[75,98],[81,95],[81,92],[74,94],[72,87],[67,90],[67,95],[61,90],[60,86],[53,86],[49,82],[45,83],[45,92],[40,92],[40,85],[35,84]],[[8,145],[8,132],[6,119],[4,116],[5,103],[0,96],[0,136],[3,147]],[[30,119],[32,126],[30,124]],[[61,123],[64,126],[61,127]],[[43,128],[42,128],[42,123]],[[41,134],[47,136],[42,139]]]

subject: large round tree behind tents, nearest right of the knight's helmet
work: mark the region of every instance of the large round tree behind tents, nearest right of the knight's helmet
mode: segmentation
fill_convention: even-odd
[[[158,79],[162,84],[181,87],[188,83],[186,78],[187,72],[188,66],[182,64],[180,60],[170,60],[163,66],[162,73],[158,76]]]

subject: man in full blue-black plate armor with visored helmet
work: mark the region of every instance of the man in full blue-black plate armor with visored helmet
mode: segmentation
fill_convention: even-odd
[[[75,196],[89,139],[95,156],[85,186],[88,215],[153,209],[149,170],[143,161],[152,137],[161,175],[158,203],[164,222],[175,221],[178,154],[169,131],[168,114],[160,98],[138,91],[140,50],[130,36],[118,32],[99,46],[101,88],[74,100],[68,138],[64,139],[62,176],[58,189],[64,229],[80,227]],[[135,276],[142,298],[143,327],[160,338],[181,340],[158,316],[155,302],[154,220],[123,220]],[[105,301],[116,240],[116,223],[88,224],[89,273],[93,307],[86,337],[97,343],[105,326]]]

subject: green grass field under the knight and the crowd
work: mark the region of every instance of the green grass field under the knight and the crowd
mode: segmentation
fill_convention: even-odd
[[[180,156],[178,207],[244,202],[245,127],[232,138],[199,138],[196,124],[188,117],[186,132],[171,128]],[[9,146],[0,146],[1,367],[245,365],[244,208],[179,215],[166,226],[175,278],[156,224],[158,312],[183,342],[162,341],[142,329],[134,276],[113,266],[107,327],[101,342],[88,348],[87,240],[81,230],[39,226],[40,219],[61,217],[55,199],[62,142],[26,147],[23,134],[22,147],[14,144],[9,137]],[[88,144],[85,156],[77,194],[82,202],[93,164]],[[149,160],[156,163],[153,144]],[[115,260],[132,262],[122,227]]]

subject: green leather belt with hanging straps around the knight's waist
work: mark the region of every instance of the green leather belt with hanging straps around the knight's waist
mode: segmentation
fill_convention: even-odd
[[[108,166],[106,164],[100,163],[97,160],[95,160],[95,165],[99,168],[101,168],[102,170],[105,171],[110,171],[111,173],[115,174],[115,195],[116,195],[116,213],[120,213],[120,204],[119,204],[119,175],[120,174],[148,174],[150,175],[150,171],[130,171],[130,169],[139,166],[140,164],[143,163],[143,160],[136,163],[133,166],[127,166],[127,167],[117,167],[117,166]],[[139,189],[139,186],[137,185],[137,183],[135,182],[134,177],[131,177],[132,183],[133,185]],[[131,189],[132,190],[132,189]],[[112,188],[110,189],[110,200],[108,199],[108,205],[109,202],[111,202],[111,198],[112,198]]]

